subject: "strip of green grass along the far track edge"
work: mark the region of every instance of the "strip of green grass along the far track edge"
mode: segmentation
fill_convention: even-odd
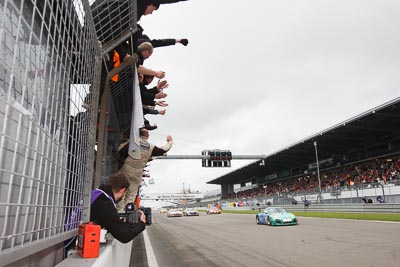
[[[205,212],[205,210],[199,210]],[[258,210],[222,210],[222,213],[234,214],[258,214]],[[372,221],[390,221],[400,222],[398,213],[347,213],[347,212],[313,212],[313,211],[295,211],[292,212],[299,217],[318,217],[331,219],[351,219],[351,220],[372,220]]]

